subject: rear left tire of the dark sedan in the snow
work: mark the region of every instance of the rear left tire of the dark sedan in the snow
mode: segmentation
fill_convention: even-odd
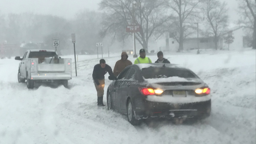
[[[127,112],[127,120],[134,126],[138,126],[141,124],[141,120],[137,120],[135,118],[134,109],[132,100],[129,99],[127,106],[126,106],[126,112]]]

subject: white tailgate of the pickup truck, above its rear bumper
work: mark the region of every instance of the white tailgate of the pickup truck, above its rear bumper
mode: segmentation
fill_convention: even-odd
[[[38,64],[38,72],[65,72],[65,64]]]

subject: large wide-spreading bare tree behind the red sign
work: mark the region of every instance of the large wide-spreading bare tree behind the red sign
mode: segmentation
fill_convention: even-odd
[[[125,32],[127,25],[135,23],[140,26],[140,31],[135,34],[135,38],[147,51],[148,42],[154,35],[157,39],[165,31],[164,23],[172,16],[167,15],[166,0],[102,0],[100,8],[105,10],[105,20],[103,21],[104,33],[117,32],[121,39],[126,38],[131,33]]]

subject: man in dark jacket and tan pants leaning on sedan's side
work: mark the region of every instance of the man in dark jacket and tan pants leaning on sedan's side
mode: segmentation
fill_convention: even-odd
[[[105,106],[103,104],[103,95],[105,87],[105,74],[109,73],[110,77],[115,79],[115,76],[112,72],[112,69],[109,65],[106,64],[104,59],[99,61],[99,64],[96,64],[93,69],[93,81],[97,91],[98,96],[98,106]]]

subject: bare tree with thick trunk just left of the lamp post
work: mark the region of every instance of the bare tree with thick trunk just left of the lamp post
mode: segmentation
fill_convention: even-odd
[[[174,38],[179,43],[179,50],[183,50],[184,39],[194,33],[194,22],[198,17],[197,6],[200,0],[170,0],[169,7],[175,12],[174,29],[178,29]]]

